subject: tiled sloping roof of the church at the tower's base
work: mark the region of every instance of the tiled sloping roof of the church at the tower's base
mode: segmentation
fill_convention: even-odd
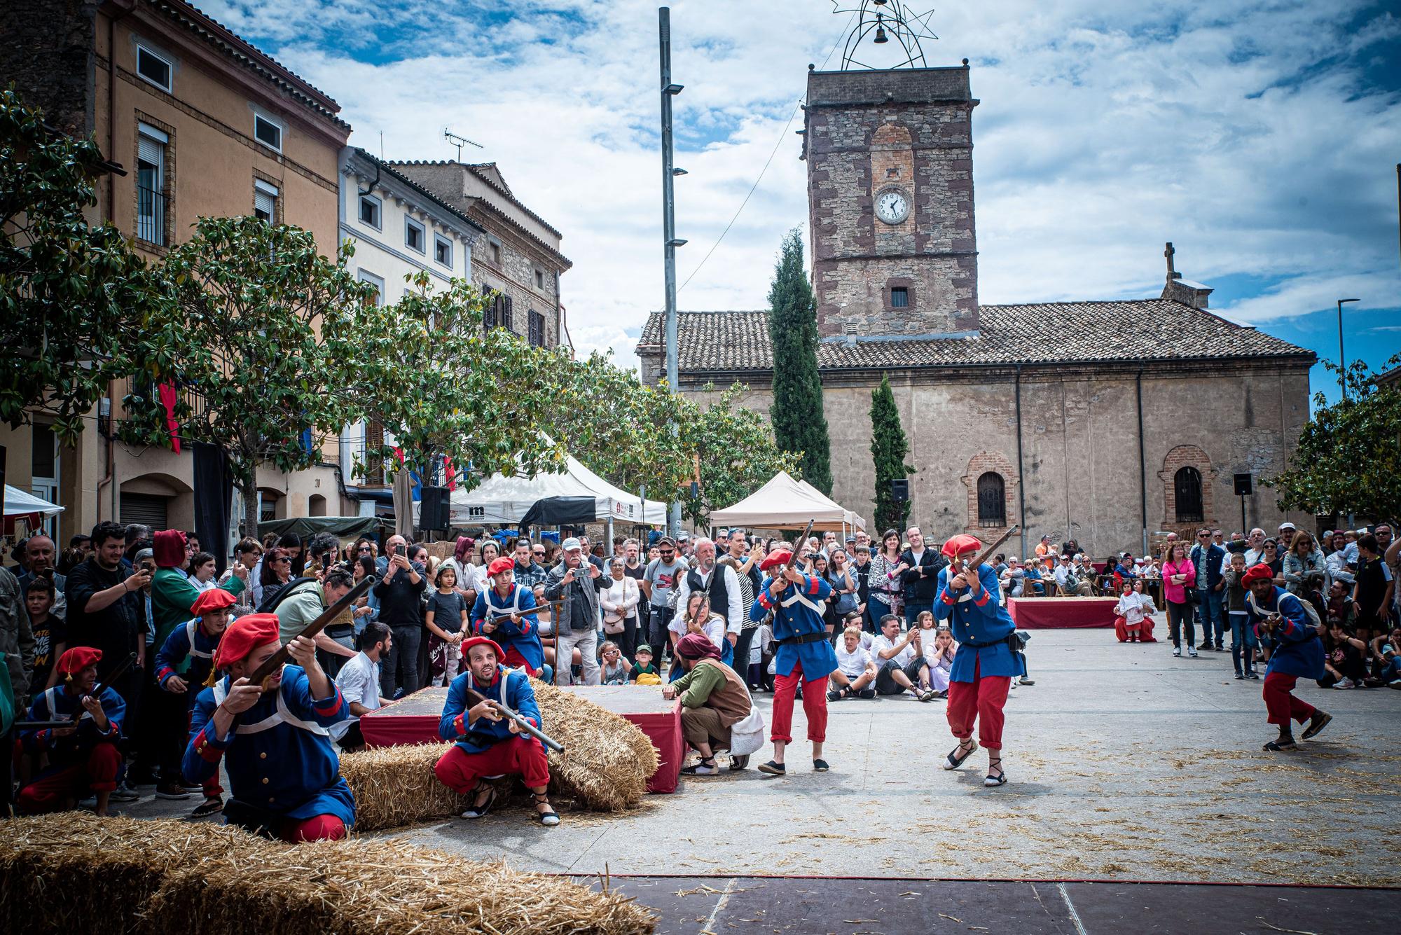
[[[1297,358],[1314,353],[1254,328],[1171,300],[984,305],[976,337],[827,339],[821,370]],[[661,312],[647,316],[637,354],[661,351]],[[677,344],[682,371],[766,371],[768,312],[681,312]]]

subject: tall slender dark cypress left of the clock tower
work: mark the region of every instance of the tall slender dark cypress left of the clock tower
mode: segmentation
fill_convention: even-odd
[[[803,270],[803,237],[783,238],[769,290],[769,343],[773,346],[773,406],[769,416],[779,448],[803,452],[803,477],[832,493],[831,444],[817,372],[817,304]]]

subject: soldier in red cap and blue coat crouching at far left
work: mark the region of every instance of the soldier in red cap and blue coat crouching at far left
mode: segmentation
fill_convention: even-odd
[[[42,728],[20,733],[21,749],[32,756],[46,753],[49,766],[20,789],[18,808],[27,815],[73,809],[88,792],[97,796],[97,813],[106,815],[116,788],[122,753],[122,717],[126,703],[112,689],[95,697],[97,663],[102,651],[74,647],[59,656],[60,684],[43,691],[29,705],[29,721],[76,721],[71,728]]]

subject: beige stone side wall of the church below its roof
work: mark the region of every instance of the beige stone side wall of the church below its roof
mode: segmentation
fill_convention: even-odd
[[[1075,537],[1103,558],[1110,551],[1142,549],[1138,391],[1135,371],[1023,371],[1021,469],[1017,469],[1016,371],[988,368],[960,377],[891,374],[891,388],[909,438],[911,519],[939,537],[981,528],[976,481],[985,470],[1003,474],[1007,522],[1026,528],[1035,544],[1047,533]],[[870,456],[870,403],[878,374],[841,379],[824,375],[824,409],[832,441],[832,497],[870,519],[874,507]],[[724,381],[727,385],[729,381]],[[688,385],[682,392],[705,405],[722,392]],[[1202,405],[1209,388],[1212,405]],[[1304,514],[1275,507],[1261,476],[1285,466],[1309,417],[1309,374],[1272,361],[1215,371],[1146,371],[1142,378],[1143,461],[1147,532],[1195,529],[1178,522],[1173,476],[1191,463],[1202,472],[1205,522],[1227,532],[1241,526],[1240,498],[1231,493],[1237,472],[1255,474],[1255,494],[1245,498],[1248,526],[1272,529],[1283,519],[1313,528]],[[1217,402],[1224,400],[1224,402]],[[740,400],[768,416],[766,381],[751,382]],[[1024,511],[1021,498],[1026,498]],[[1009,553],[1023,549],[1021,539]]]

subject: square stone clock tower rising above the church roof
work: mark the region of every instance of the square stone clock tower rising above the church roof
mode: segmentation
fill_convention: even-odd
[[[822,337],[978,330],[968,66],[808,71],[813,284]]]

